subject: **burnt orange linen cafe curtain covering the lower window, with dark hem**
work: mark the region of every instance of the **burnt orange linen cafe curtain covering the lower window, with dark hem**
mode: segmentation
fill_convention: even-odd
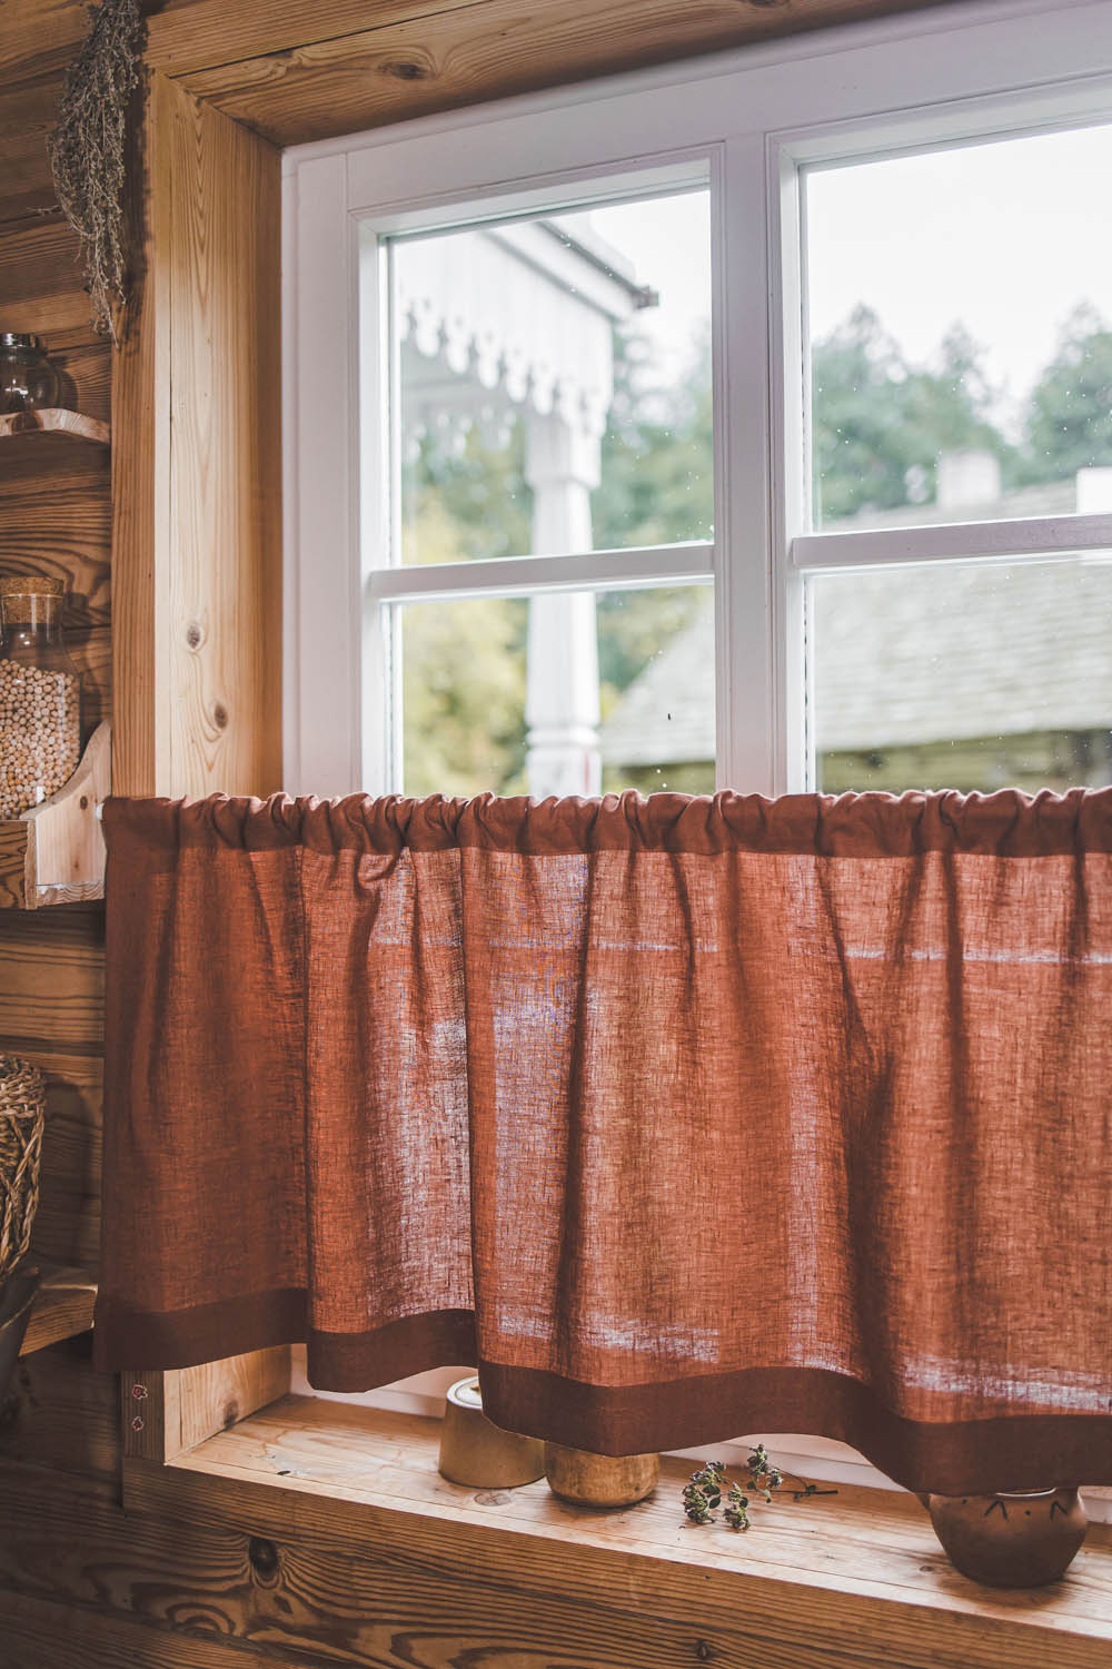
[[[1112,789],[110,801],[97,1357],[1112,1484]]]

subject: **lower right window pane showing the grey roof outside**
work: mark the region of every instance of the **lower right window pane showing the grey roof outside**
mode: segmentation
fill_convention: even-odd
[[[817,786],[1112,781],[1112,554],[809,581]]]

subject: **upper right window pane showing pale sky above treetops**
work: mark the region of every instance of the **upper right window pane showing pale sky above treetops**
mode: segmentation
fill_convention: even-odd
[[[1112,507],[1112,129],[807,174],[814,522]]]

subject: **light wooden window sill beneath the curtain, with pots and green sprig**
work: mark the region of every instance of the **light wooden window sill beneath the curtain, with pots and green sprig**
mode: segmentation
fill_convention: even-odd
[[[448,1484],[437,1444],[435,1420],[282,1397],[167,1465],[127,1460],[125,1507],[232,1525],[278,1547],[327,1544],[373,1561],[382,1581],[403,1566],[413,1629],[425,1611],[443,1619],[467,1604],[487,1647],[508,1589],[518,1637],[540,1652],[525,1654],[530,1662],[555,1662],[543,1652],[557,1651],[577,1669],[719,1657],[770,1669],[1112,1664],[1105,1525],[1090,1530],[1062,1582],[1002,1592],[952,1571],[905,1494],[842,1485],[837,1495],[759,1507],[754,1529],[735,1535],[722,1522],[684,1524],[679,1492],[690,1465],[682,1460],[664,1460],[647,1502],[595,1512],[557,1500],[543,1480],[517,1490]],[[584,1606],[595,1616],[587,1627]],[[575,1642],[564,1632],[569,1617],[579,1619]],[[423,1632],[428,1626],[425,1617]],[[455,1622],[450,1629],[457,1637]],[[767,1656],[754,1657],[759,1641]]]

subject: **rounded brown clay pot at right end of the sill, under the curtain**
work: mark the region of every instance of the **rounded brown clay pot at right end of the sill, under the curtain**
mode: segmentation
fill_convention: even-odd
[[[919,1499],[950,1564],[989,1587],[1057,1582],[1089,1529],[1075,1489]]]

